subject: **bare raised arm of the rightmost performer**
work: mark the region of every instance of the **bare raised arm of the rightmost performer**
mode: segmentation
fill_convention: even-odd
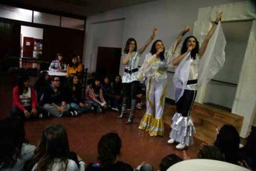
[[[202,58],[202,55],[204,55],[205,49],[207,48],[207,45],[211,39],[211,36],[213,36],[214,31],[217,28],[217,24],[222,18],[222,12],[217,15],[215,22],[213,23],[213,26],[211,26],[210,31],[208,32],[207,36],[204,39],[204,42],[202,42],[201,48],[199,49],[199,58]]]

